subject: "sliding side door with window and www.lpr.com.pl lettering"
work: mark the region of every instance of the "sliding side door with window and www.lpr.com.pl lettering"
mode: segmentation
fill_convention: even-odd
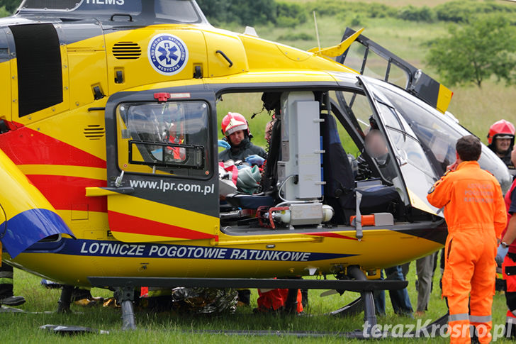
[[[108,187],[87,192],[107,196],[109,227],[116,239],[216,238],[219,206],[212,104],[214,94],[193,92],[143,91],[109,99]]]

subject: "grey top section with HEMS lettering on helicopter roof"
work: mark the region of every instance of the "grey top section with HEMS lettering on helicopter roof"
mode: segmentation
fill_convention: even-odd
[[[25,0],[21,12],[66,12],[98,16],[130,15],[131,21],[206,23],[193,0]],[[113,17],[111,17],[113,18]]]

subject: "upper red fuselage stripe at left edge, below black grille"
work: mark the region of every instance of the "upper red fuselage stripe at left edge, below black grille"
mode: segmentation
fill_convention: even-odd
[[[27,127],[2,134],[0,149],[16,165],[66,165],[106,168],[106,161],[100,157]]]

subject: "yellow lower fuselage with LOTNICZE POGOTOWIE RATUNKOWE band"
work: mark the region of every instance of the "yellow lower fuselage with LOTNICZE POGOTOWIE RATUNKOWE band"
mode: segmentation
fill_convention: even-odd
[[[339,234],[352,237],[353,231]],[[309,235],[296,234],[298,238]],[[223,243],[224,235],[220,238]],[[234,238],[234,237],[233,237]],[[269,235],[273,239],[274,234]],[[111,246],[110,246],[111,245]],[[122,246],[123,245],[123,246]],[[270,246],[270,245],[269,245]],[[364,239],[324,238],[301,245],[277,243],[212,246],[210,240],[184,243],[79,243],[75,254],[22,253],[16,260],[28,270],[68,284],[88,286],[88,276],[125,277],[274,277],[308,274],[308,268],[331,274],[341,267],[360,265],[364,270],[390,267],[427,255],[442,245],[396,231],[365,231]],[[101,256],[111,250],[116,257]],[[371,255],[382,252],[382,255]],[[152,255],[149,257],[149,253]],[[332,255],[342,257],[332,257]],[[206,259],[210,255],[211,259]],[[55,269],[59,266],[60,269]]]

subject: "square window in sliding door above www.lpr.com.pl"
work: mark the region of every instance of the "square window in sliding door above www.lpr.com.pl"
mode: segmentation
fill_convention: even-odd
[[[209,174],[206,103],[121,104],[117,118],[121,170],[197,177]]]

